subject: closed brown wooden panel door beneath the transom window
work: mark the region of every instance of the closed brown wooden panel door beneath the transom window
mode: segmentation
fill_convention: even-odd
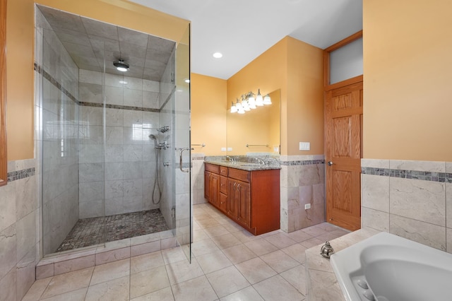
[[[362,81],[326,92],[326,220],[361,228]]]

